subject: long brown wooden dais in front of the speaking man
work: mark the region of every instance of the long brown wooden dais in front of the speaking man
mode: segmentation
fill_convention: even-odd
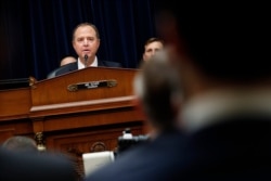
[[[125,128],[134,135],[146,133],[132,93],[137,72],[89,67],[0,91],[0,141],[16,134],[33,137],[40,147],[75,156],[79,165],[82,153],[115,150]],[[116,85],[104,86],[107,80]],[[104,87],[94,88],[99,82]],[[68,90],[70,85],[83,89]],[[82,174],[81,167],[78,172]]]

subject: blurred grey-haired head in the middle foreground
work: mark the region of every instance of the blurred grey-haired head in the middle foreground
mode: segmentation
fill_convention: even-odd
[[[178,85],[177,72],[163,52],[143,62],[141,72],[136,76],[134,92],[143,103],[151,124],[159,130],[168,130],[173,126],[176,114],[172,105]]]

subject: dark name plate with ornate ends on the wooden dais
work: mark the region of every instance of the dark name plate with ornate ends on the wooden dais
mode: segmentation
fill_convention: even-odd
[[[67,87],[67,90],[69,92],[75,92],[75,91],[85,90],[85,89],[112,88],[115,86],[117,86],[117,81],[114,79],[98,80],[98,81],[79,82],[79,83],[75,83],[75,85],[69,85]]]

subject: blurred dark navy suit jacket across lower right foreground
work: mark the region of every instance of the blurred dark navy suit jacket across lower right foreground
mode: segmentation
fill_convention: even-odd
[[[87,181],[271,180],[271,117],[223,119],[128,151]]]

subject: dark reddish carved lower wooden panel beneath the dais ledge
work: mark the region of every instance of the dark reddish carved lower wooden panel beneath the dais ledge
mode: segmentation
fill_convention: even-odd
[[[75,161],[79,180],[83,180],[82,154],[101,151],[116,151],[117,139],[122,131],[130,128],[134,135],[142,134],[142,122],[134,121],[121,125],[98,126],[74,131],[50,132],[46,135],[47,148],[66,153]]]

